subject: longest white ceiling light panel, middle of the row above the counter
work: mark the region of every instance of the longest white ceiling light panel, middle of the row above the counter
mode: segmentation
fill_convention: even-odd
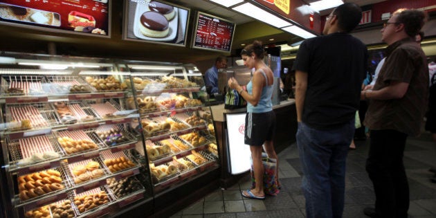
[[[236,10],[237,12],[240,12],[244,15],[247,15],[249,17],[253,17],[254,19],[257,19],[259,21],[262,21],[266,24],[269,24],[271,26],[275,26],[277,28],[282,28],[285,26],[291,26],[292,24],[288,21],[285,21],[284,19],[281,19],[269,12],[266,12],[265,10],[262,10],[260,8],[257,8],[251,3],[244,3],[243,5],[237,6],[235,8],[232,8],[233,10]]]

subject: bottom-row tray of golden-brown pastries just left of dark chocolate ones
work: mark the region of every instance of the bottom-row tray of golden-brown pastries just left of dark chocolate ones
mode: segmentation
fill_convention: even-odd
[[[69,192],[77,217],[104,217],[111,212],[111,206],[116,199],[113,198],[107,185],[93,188],[86,192]]]

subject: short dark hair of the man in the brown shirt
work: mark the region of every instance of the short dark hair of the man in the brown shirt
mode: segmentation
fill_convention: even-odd
[[[404,24],[404,30],[410,37],[419,34],[419,30],[424,26],[427,19],[426,12],[416,9],[399,9],[394,12],[394,15],[398,15],[397,22]]]

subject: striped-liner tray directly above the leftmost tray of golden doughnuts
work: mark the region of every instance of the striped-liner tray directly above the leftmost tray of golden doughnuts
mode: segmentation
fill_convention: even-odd
[[[10,154],[9,172],[26,174],[59,167],[64,152],[53,134],[11,139],[6,136]]]

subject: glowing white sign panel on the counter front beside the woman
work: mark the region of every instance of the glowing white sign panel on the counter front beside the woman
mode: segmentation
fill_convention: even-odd
[[[230,174],[241,174],[250,170],[250,146],[244,143],[246,113],[226,114],[228,151],[228,171]]]

